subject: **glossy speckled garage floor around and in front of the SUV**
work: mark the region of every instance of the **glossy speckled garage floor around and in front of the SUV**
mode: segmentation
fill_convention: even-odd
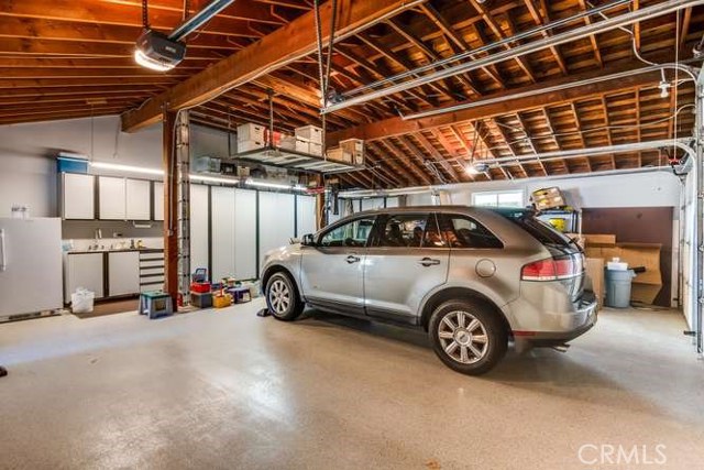
[[[0,325],[0,468],[702,468],[704,363],[679,314],[605,310],[568,353],[476,379],[421,332],[261,306]],[[609,445],[639,463],[595,461]]]

